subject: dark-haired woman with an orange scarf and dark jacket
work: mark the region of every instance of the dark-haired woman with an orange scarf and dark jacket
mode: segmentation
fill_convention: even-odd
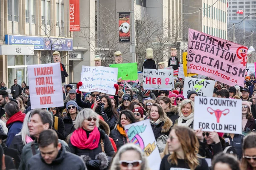
[[[111,130],[110,137],[116,142],[117,150],[127,143],[125,125],[130,125],[138,120],[135,118],[134,113],[128,110],[124,110],[120,113],[116,128]]]

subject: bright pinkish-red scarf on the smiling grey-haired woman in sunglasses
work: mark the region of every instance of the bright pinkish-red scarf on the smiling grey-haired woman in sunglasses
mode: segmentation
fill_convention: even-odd
[[[91,131],[89,138],[87,138],[87,134],[85,130],[79,128],[75,130],[70,137],[70,142],[73,146],[78,147],[79,149],[90,149],[93,150],[99,146],[99,129],[95,127],[93,131]]]

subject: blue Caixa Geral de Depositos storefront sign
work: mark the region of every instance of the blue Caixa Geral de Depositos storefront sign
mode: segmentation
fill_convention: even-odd
[[[34,45],[35,50],[44,49],[44,37],[5,35],[5,40],[8,45]]]

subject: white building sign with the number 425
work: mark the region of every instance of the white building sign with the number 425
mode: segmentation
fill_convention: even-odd
[[[0,55],[34,55],[34,46],[0,45]]]

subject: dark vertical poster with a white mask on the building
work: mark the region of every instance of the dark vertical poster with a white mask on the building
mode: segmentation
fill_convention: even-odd
[[[130,42],[130,12],[119,12],[119,42]]]

